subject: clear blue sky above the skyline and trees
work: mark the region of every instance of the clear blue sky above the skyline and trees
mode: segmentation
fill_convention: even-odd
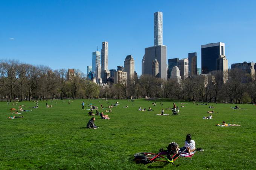
[[[108,68],[132,54],[141,74],[145,47],[154,45],[154,12],[163,12],[167,59],[184,58],[201,45],[226,44],[229,64],[256,62],[255,0],[2,0],[0,59],[86,73],[92,52],[109,43]]]

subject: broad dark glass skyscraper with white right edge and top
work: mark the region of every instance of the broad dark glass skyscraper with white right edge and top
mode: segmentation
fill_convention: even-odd
[[[225,56],[225,44],[222,42],[201,45],[202,74],[217,70],[217,59]]]

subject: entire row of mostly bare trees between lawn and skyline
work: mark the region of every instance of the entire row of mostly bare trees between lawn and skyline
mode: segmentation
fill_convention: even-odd
[[[71,80],[67,80],[66,75],[67,69],[52,70],[48,66],[2,60],[0,62],[1,100],[127,99],[147,96],[198,102],[256,103],[256,81],[237,69],[224,73],[214,71],[207,75],[189,77],[180,82],[144,75],[139,80],[128,82],[127,86],[108,84],[103,88],[87,80],[83,74],[78,74]]]

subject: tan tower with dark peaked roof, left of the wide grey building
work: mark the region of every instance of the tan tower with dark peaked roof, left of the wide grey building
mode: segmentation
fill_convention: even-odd
[[[126,56],[123,71],[127,73],[127,83],[134,80],[134,59],[132,55]]]

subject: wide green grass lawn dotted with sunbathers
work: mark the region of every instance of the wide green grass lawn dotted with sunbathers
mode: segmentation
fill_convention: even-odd
[[[84,100],[100,108],[119,102],[109,120],[96,117],[98,129],[87,129],[91,116],[82,110],[80,100],[66,102],[39,101],[38,109],[30,109],[34,102],[18,102],[16,106],[0,102],[0,169],[147,169],[158,168],[163,163],[136,164],[137,152],[158,152],[172,141],[184,146],[186,134],[191,134],[196,147],[203,152],[192,158],[178,158],[163,169],[256,169],[256,106],[239,105],[247,110],[232,110],[230,104],[195,105],[185,102],[178,116],[157,116],[162,108],[172,107],[172,101],[160,100],[154,107],[143,99],[134,100]],[[55,103],[57,102],[57,103]],[[107,104],[109,102],[109,104]],[[183,101],[182,101],[183,102]],[[181,104],[176,102],[180,107]],[[128,108],[123,106],[128,105]],[[22,112],[17,118],[10,108],[18,105],[31,112]],[[154,111],[138,111],[139,107]],[[214,110],[213,119],[204,120],[208,110]],[[171,110],[165,110],[171,114]],[[216,123],[235,123],[241,126],[218,127]]]

